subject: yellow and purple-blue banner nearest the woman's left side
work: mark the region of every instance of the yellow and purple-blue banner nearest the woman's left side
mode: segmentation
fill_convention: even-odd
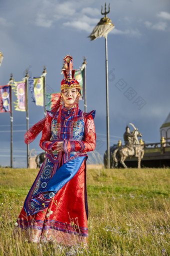
[[[29,77],[28,79],[32,99],[37,106],[43,106],[43,79],[44,77]]]

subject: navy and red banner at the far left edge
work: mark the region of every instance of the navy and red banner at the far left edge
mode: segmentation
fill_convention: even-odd
[[[0,86],[0,113],[10,112],[10,85]]]

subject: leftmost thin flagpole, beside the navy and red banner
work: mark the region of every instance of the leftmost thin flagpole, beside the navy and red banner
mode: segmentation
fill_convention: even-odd
[[[12,73],[10,74],[9,84],[10,84],[10,168],[13,168],[13,112],[12,112],[12,88],[11,84],[13,82]]]

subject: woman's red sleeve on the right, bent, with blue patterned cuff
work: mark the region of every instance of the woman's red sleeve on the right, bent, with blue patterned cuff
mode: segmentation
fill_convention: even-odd
[[[85,118],[84,135],[84,141],[65,141],[65,153],[72,151],[85,153],[88,151],[93,151],[95,149],[95,126],[91,115]]]

